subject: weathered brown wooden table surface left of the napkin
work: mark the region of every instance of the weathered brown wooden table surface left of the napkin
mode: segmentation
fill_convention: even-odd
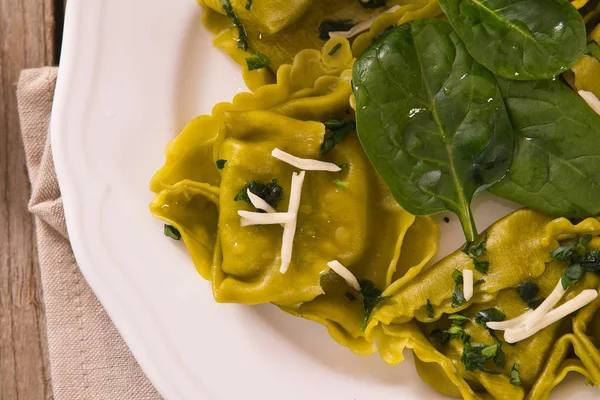
[[[63,0],[0,0],[0,399],[52,399],[29,180],[15,96],[24,68],[56,65]]]

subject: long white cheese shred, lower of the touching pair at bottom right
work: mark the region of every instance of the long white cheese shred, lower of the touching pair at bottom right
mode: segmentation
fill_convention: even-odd
[[[552,325],[553,323],[561,320],[567,315],[587,306],[598,297],[598,292],[593,289],[584,290],[577,296],[567,301],[560,307],[545,314],[541,320],[539,320],[531,329],[525,329],[524,327],[508,329],[504,332],[504,340],[507,343],[516,343],[521,340],[527,339],[542,329]]]

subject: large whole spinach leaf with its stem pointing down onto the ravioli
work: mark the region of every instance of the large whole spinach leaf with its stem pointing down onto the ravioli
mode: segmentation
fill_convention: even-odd
[[[353,68],[358,136],[396,201],[415,215],[452,211],[468,242],[473,196],[510,165],[512,128],[493,75],[450,24],[391,29]]]

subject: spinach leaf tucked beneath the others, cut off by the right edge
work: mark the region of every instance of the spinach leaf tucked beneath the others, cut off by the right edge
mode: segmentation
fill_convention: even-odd
[[[559,80],[498,84],[515,154],[489,191],[548,215],[600,215],[600,116]]]

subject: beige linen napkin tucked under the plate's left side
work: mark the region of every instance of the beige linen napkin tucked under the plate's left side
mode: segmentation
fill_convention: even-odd
[[[48,135],[56,74],[56,68],[23,71],[17,88],[54,398],[160,399],[87,285],[71,251]]]

